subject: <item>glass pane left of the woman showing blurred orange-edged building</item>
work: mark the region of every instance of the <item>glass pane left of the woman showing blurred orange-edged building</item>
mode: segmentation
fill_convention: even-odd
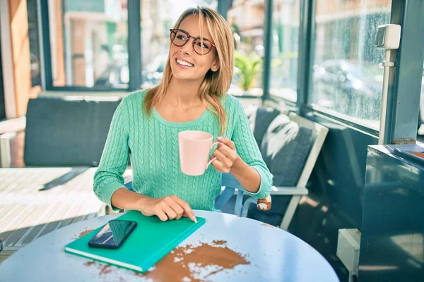
[[[49,1],[54,86],[127,88],[126,0]]]

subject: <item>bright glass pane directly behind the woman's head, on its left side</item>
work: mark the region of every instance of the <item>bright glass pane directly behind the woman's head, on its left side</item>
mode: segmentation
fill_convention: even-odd
[[[141,1],[141,88],[151,88],[162,79],[170,46],[170,28],[182,12],[196,6],[216,10],[217,5],[217,0]]]

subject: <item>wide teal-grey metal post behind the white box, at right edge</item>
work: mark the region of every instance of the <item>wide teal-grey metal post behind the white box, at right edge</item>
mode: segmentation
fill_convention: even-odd
[[[390,23],[401,25],[401,44],[391,52],[384,144],[416,142],[424,61],[424,1],[392,0]],[[404,94],[403,94],[404,93]]]

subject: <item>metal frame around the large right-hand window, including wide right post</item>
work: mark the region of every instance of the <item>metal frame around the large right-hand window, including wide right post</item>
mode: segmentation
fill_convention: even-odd
[[[378,131],[367,125],[361,125],[349,118],[340,117],[314,106],[312,101],[312,66],[314,62],[315,11],[317,0],[302,0],[301,30],[298,74],[298,111],[302,116],[312,113],[337,121],[350,128],[378,137]],[[422,1],[392,0],[390,23],[402,26],[401,45],[392,52],[391,61],[396,62],[396,71],[389,80],[387,97],[387,119],[385,144],[416,142],[417,122],[420,104],[420,87],[424,60],[424,14]],[[412,28],[410,28],[412,27]],[[416,68],[411,73],[411,66]],[[406,75],[406,73],[408,75]],[[401,95],[402,92],[410,93]],[[412,94],[412,95],[411,95]],[[413,109],[411,111],[411,109]]]

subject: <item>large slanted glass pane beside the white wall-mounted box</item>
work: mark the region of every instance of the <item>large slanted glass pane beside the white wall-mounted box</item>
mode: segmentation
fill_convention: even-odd
[[[317,1],[312,104],[379,128],[384,51],[374,39],[390,10],[390,0]]]

